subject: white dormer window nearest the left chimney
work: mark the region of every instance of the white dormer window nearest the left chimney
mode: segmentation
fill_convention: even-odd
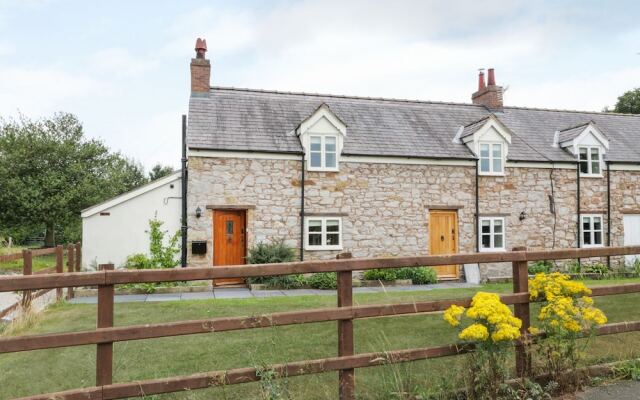
[[[309,171],[338,171],[347,126],[329,106],[320,105],[296,128]]]

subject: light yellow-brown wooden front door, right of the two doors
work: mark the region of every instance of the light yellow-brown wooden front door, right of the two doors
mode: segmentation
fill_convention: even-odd
[[[458,214],[456,211],[432,210],[429,212],[429,254],[454,254],[458,252]],[[434,267],[438,279],[458,279],[458,265]]]

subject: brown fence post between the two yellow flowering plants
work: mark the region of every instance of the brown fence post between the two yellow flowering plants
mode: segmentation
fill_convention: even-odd
[[[526,251],[526,247],[514,247],[513,251]],[[526,261],[513,261],[513,292],[529,293],[529,270]],[[524,335],[528,333],[531,326],[531,318],[529,313],[529,303],[515,304],[513,306],[514,314],[522,320],[520,333]],[[516,373],[519,377],[525,376],[531,370],[531,359],[527,355],[526,349],[522,342],[516,344]]]

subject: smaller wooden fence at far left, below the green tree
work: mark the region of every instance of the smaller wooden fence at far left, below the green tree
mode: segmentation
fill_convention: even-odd
[[[63,274],[64,273],[64,246],[58,245],[45,249],[25,249],[20,253],[0,255],[0,262],[8,262],[22,259],[22,275],[45,275],[45,274]],[[55,266],[41,269],[37,272],[33,271],[34,257],[55,254]],[[82,260],[82,245],[80,242],[67,245],[67,270],[68,272],[80,272]],[[48,293],[51,289],[43,289],[37,292],[25,290],[22,292],[20,301],[10,305],[4,310],[0,310],[0,318],[9,315],[17,310],[20,306],[27,309],[31,306],[33,300]],[[67,299],[73,298],[73,287],[67,289]],[[56,288],[56,300],[63,298],[63,288]]]

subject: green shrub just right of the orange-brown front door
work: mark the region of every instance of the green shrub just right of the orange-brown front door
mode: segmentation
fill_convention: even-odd
[[[296,252],[287,246],[284,240],[271,243],[260,242],[249,249],[247,262],[249,264],[273,264],[290,262],[296,258]],[[247,283],[258,283],[268,288],[297,289],[306,283],[302,275],[258,276],[247,278]]]

